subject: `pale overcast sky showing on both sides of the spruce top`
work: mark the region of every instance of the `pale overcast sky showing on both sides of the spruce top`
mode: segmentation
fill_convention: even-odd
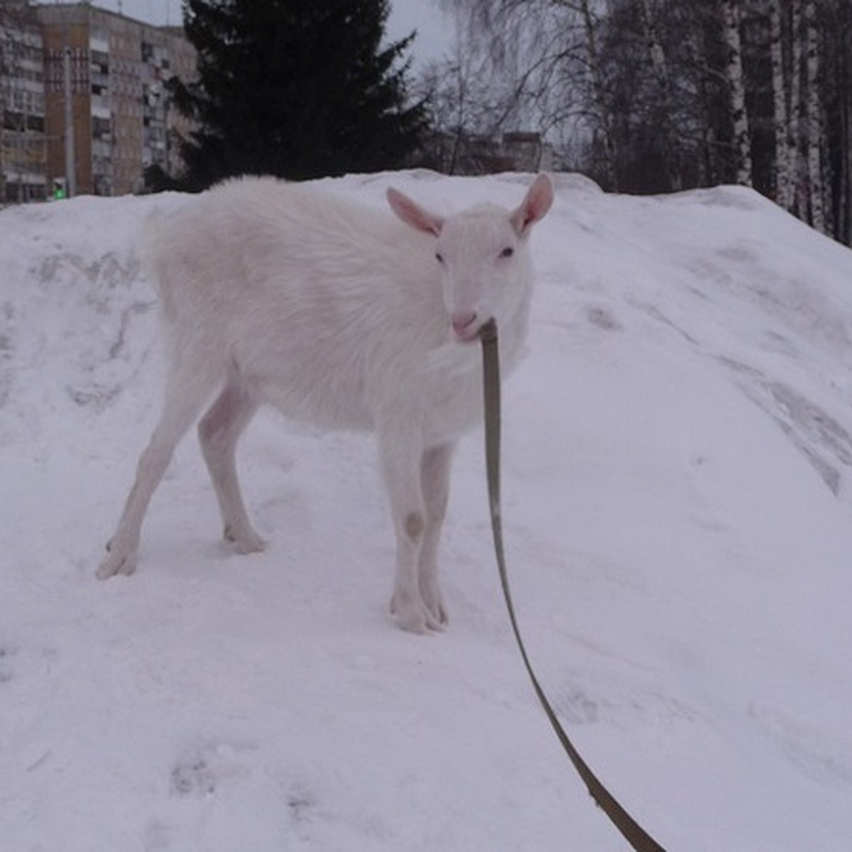
[[[181,22],[181,0],[93,0],[92,5],[120,11],[152,24]],[[406,36],[415,29],[417,40],[412,53],[416,64],[440,59],[450,48],[452,22],[440,11],[435,0],[390,0],[389,40]]]

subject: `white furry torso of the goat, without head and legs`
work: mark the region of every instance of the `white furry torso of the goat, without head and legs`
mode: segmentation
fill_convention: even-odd
[[[236,369],[285,414],[333,428],[370,429],[389,400],[429,395],[417,377],[446,340],[433,240],[389,214],[242,178],[157,222],[147,254],[174,360]]]

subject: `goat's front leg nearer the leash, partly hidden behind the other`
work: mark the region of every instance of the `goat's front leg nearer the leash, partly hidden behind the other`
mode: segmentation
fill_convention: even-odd
[[[418,581],[420,596],[435,619],[446,624],[447,613],[438,583],[438,544],[450,493],[450,463],[453,444],[430,447],[420,465],[423,500],[426,504],[426,530],[420,548]]]

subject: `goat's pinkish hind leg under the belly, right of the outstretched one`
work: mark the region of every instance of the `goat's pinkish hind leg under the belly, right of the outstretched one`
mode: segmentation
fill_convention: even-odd
[[[201,450],[222,510],[224,538],[238,553],[256,553],[266,545],[251,526],[237,476],[237,441],[257,407],[256,396],[233,373],[199,423]]]

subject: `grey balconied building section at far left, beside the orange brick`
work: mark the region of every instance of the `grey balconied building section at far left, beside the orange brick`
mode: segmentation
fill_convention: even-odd
[[[0,204],[47,192],[41,27],[24,0],[0,6]]]

